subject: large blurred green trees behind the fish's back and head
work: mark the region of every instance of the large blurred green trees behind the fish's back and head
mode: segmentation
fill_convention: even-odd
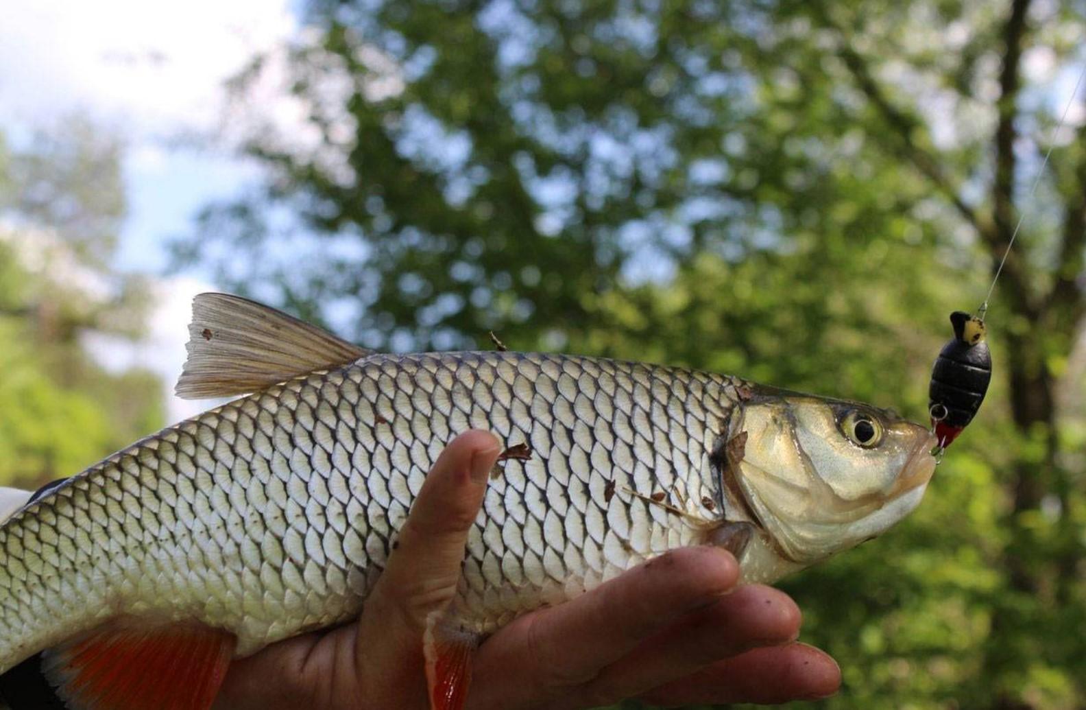
[[[790,589],[843,661],[829,707],[1079,707],[1086,435],[1059,395],[1084,388],[1086,124],[1052,127],[1081,5],[307,11],[312,32],[238,79],[243,100],[285,70],[305,124],[252,126],[267,180],[205,210],[178,256],[350,313],[370,347],[497,329],[923,419],[946,313],[983,298],[1035,202],[993,303],[990,401],[931,500]]]

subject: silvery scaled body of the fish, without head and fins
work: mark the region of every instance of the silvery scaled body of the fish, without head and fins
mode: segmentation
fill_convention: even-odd
[[[235,400],[0,528],[0,671],[117,614],[230,630],[239,656],[355,616],[468,428],[531,447],[497,464],[468,536],[456,608],[493,631],[699,541],[722,514],[708,450],[745,387],[593,358],[372,354]]]

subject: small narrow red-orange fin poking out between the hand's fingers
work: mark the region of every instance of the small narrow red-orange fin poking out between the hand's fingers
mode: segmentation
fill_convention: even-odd
[[[475,634],[442,622],[438,614],[427,620],[422,653],[430,710],[462,710],[471,685],[471,653],[478,643]]]

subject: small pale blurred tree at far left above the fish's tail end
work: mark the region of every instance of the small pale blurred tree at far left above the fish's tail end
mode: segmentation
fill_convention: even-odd
[[[161,425],[156,376],[111,374],[88,333],[138,335],[146,285],[108,267],[121,146],[81,119],[0,150],[0,484],[77,473]]]

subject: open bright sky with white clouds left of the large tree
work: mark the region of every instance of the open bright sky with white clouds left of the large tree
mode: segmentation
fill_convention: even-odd
[[[0,22],[0,133],[13,142],[83,113],[126,139],[129,217],[116,265],[160,273],[164,245],[193,213],[254,175],[228,146],[198,147],[215,132],[223,83],[257,52],[299,32],[287,0],[35,0],[4,4]],[[191,297],[211,286],[199,272],[164,278],[147,341],[96,349],[105,364],[151,366],[172,388],[185,359]],[[171,397],[171,420],[206,402]]]

